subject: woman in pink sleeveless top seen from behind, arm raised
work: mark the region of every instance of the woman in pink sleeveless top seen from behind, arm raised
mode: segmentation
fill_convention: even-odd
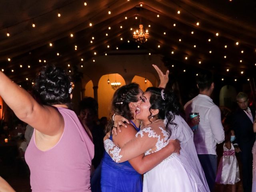
[[[94,147],[68,109],[70,77],[60,68],[46,66],[36,90],[43,104],[0,72],[0,96],[20,120],[35,128],[25,154],[32,192],[89,192]]]

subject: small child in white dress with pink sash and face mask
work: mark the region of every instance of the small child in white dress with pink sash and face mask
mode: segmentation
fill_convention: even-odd
[[[225,131],[223,156],[217,170],[216,183],[222,184],[220,191],[224,192],[224,185],[232,185],[232,192],[236,192],[236,183],[240,181],[239,167],[236,160],[235,148],[232,141],[235,139],[234,130]]]

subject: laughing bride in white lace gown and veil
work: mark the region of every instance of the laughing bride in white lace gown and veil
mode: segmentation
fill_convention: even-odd
[[[192,131],[178,110],[174,94],[148,88],[137,106],[136,119],[142,120],[142,128],[136,138],[122,148],[104,138],[105,149],[115,162],[154,153],[166,146],[169,139],[180,140],[180,155],[172,154],[144,174],[143,192],[210,191],[196,155]]]

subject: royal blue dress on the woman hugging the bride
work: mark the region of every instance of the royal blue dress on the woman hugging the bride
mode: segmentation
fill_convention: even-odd
[[[140,130],[132,121],[130,123]],[[106,152],[102,159],[100,184],[102,192],[142,192],[143,186],[141,174],[128,161],[116,163]]]

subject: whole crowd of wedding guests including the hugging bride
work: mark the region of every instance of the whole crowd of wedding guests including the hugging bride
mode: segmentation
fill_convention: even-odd
[[[223,116],[211,99],[213,76],[202,72],[199,94],[182,107],[175,92],[165,89],[168,71],[154,68],[159,88],[143,93],[135,83],[120,87],[109,123],[98,119],[94,98],[82,99],[78,116],[70,110],[72,84],[61,68],[46,66],[38,75],[40,102],[0,72],[0,96],[22,120],[13,130],[2,123],[1,137],[16,139],[32,191],[213,192],[218,183],[222,191],[228,184],[235,192],[240,178],[244,192],[256,191],[255,108],[247,94],[238,93],[238,110]],[[192,118],[192,112],[199,115]],[[10,187],[0,179],[0,191]]]

